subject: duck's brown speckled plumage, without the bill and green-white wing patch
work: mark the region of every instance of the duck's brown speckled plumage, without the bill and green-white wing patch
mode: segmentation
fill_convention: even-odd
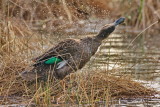
[[[51,71],[54,77],[63,79],[66,75],[81,69],[96,53],[102,40],[107,38],[114,30],[115,25],[109,24],[104,26],[96,36],[82,39],[66,39],[43,55],[33,59],[32,69],[22,72],[21,76],[26,80],[34,80],[35,78],[29,78],[31,77],[30,75],[34,77],[34,74],[36,74],[38,78],[43,78]],[[66,60],[67,64],[60,69],[56,69],[56,64],[46,65],[43,63],[45,60],[55,56]]]

